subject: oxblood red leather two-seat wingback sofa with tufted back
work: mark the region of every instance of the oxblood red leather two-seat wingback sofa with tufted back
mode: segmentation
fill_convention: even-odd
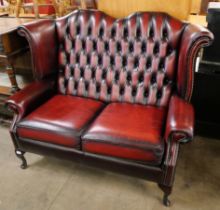
[[[213,35],[164,13],[89,10],[18,31],[36,78],[7,101],[21,167],[25,152],[99,165],[157,182],[169,205],[179,145],[193,138],[196,56]]]

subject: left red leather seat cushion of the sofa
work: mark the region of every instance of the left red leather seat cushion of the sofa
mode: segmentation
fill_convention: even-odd
[[[17,125],[20,138],[80,148],[80,135],[103,103],[92,99],[56,95]]]

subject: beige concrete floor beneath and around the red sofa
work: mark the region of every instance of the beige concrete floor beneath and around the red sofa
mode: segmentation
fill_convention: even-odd
[[[26,154],[21,170],[8,128],[0,127],[0,210],[219,210],[220,141],[182,146],[172,206],[156,184],[74,162]]]

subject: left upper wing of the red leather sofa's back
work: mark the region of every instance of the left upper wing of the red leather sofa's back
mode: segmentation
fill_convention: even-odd
[[[27,39],[32,68],[37,80],[57,70],[57,36],[54,20],[37,20],[18,27],[18,34]]]

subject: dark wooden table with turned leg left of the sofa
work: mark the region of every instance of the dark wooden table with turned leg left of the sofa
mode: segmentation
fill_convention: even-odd
[[[0,124],[8,124],[12,117],[4,103],[8,96],[19,90],[15,77],[17,65],[20,68],[26,66],[25,71],[32,72],[28,43],[16,31],[19,25],[30,21],[32,19],[0,18]],[[8,81],[7,85],[2,84],[4,78]]]

